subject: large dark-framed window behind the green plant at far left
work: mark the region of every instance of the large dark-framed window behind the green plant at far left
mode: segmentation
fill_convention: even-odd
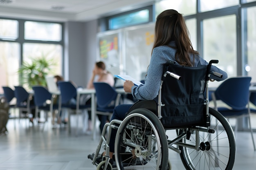
[[[54,63],[51,67],[52,75],[62,75],[62,25],[54,22],[0,19],[0,86],[13,88],[20,85],[18,69],[22,62],[30,62],[31,58],[36,57],[43,57]],[[28,87],[27,84],[22,85]],[[0,94],[2,93],[0,88]]]

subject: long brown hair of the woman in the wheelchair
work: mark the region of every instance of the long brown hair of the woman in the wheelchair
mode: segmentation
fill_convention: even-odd
[[[153,49],[157,46],[169,46],[171,41],[175,41],[176,44],[176,47],[170,46],[177,49],[175,60],[180,65],[193,66],[189,54],[192,53],[195,57],[195,54],[198,55],[199,53],[193,49],[182,14],[174,9],[163,11],[157,16]]]

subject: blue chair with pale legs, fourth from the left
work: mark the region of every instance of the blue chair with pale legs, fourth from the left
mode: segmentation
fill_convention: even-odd
[[[61,97],[60,97],[60,102],[59,102],[59,109],[58,113],[61,112],[61,108],[67,108],[71,111],[76,112],[76,135],[78,132],[78,120],[79,120],[79,112],[82,110],[87,110],[88,108],[91,107],[89,104],[80,104],[80,97],[78,98],[79,95],[77,95],[76,87],[72,82],[65,82],[65,81],[59,81],[58,87],[60,88],[61,91]],[[58,114],[59,115],[59,114]],[[68,127],[69,127],[69,132],[71,132],[70,128],[70,111],[68,112]],[[59,116],[58,116],[59,118]]]

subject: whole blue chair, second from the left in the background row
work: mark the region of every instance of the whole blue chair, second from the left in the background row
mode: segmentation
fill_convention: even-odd
[[[16,97],[16,108],[19,109],[19,119],[22,113],[29,117],[35,110],[33,95],[29,94],[22,86],[14,86],[14,95]]]

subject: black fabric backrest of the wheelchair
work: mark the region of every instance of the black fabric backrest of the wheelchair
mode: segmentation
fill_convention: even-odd
[[[205,87],[207,66],[180,66],[168,62],[166,71],[181,76],[162,78],[161,115],[164,128],[206,126]]]

